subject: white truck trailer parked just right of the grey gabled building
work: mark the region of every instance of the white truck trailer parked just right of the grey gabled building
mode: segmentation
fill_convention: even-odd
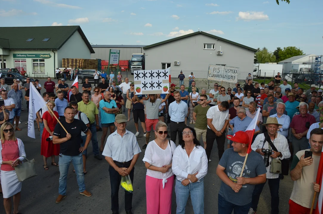
[[[254,64],[253,77],[255,79],[260,77],[274,78],[277,73],[283,73],[283,65],[276,63],[256,63]]]

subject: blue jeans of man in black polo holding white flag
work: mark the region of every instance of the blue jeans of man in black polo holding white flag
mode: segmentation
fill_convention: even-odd
[[[78,154],[76,156],[69,156],[64,154],[59,154],[59,187],[58,187],[58,194],[66,195],[66,188],[67,188],[67,174],[69,164],[73,163],[76,179],[78,181],[78,191],[83,192],[85,190],[85,181],[84,181],[84,174],[83,174],[83,158],[82,154]]]

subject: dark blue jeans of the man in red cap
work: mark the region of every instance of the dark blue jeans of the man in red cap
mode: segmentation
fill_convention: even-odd
[[[232,199],[237,200],[237,199]],[[233,210],[233,214],[248,214],[251,206],[251,202],[249,204],[238,206],[229,201],[226,201],[220,194],[218,194],[218,214],[231,214]]]

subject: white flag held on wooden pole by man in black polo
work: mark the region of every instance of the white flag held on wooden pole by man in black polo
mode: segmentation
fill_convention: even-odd
[[[28,114],[28,136],[35,137],[34,120],[36,119],[36,112],[45,106],[45,100],[39,94],[33,84],[30,84],[29,88],[29,114]]]

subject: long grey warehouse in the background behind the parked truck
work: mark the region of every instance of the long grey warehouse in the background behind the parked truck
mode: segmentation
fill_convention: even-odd
[[[91,59],[109,60],[110,49],[120,50],[119,60],[131,60],[133,53],[143,53],[142,47],[145,45],[92,45],[95,53],[91,54]]]

